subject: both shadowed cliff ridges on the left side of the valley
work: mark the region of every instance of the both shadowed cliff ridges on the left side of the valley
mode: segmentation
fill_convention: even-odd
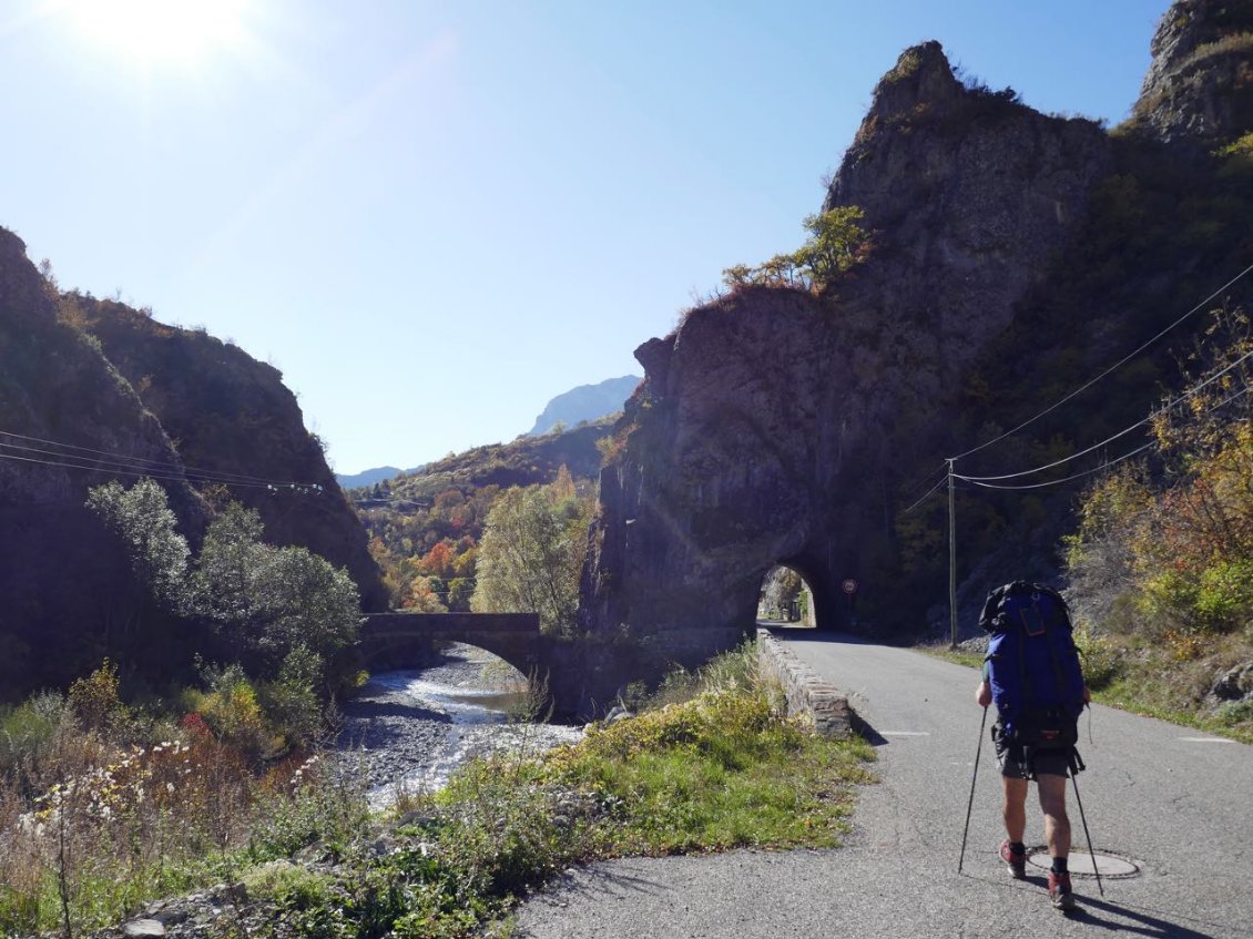
[[[0,700],[107,655],[149,677],[187,661],[185,623],[137,615],[144,591],[84,506],[91,486],[139,475],[159,480],[193,543],[213,501],[241,498],[269,538],[347,565],[363,600],[383,602],[365,532],[274,369],[120,304],[58,295],[0,229]]]

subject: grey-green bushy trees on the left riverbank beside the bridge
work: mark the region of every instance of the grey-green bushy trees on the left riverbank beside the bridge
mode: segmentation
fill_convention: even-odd
[[[227,660],[224,670],[202,669],[218,705],[208,712],[229,715],[223,720],[233,730],[214,729],[228,737],[246,729],[253,756],[311,742],[323,704],[355,680],[341,655],[361,621],[348,575],[306,548],[266,545],[259,517],[238,503],[209,523],[189,567],[187,540],[174,528],[165,491],[152,480],[129,490],[118,482],[98,486],[88,505],[119,536],[138,582],[147,585],[143,597],[127,598],[123,627],[153,605],[164,607],[200,634],[205,651]],[[268,705],[268,721],[249,680],[261,682],[256,695]]]

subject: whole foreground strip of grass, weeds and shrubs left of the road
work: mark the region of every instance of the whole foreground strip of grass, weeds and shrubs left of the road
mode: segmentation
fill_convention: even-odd
[[[382,830],[327,759],[258,776],[194,721],[119,746],[124,709],[93,676],[0,714],[0,929],[73,934],[227,879],[263,935],[466,936],[571,863],[836,845],[872,750],[782,716],[754,661],[746,647],[673,675],[650,710],[578,745],[472,762]],[[89,730],[75,709],[99,705]]]

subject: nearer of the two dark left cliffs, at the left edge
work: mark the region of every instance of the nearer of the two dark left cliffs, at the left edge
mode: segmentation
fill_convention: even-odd
[[[105,650],[125,647],[137,657],[165,651],[110,615],[110,598],[135,587],[125,558],[84,506],[90,486],[130,461],[169,467],[162,485],[184,530],[203,527],[203,506],[164,428],[99,344],[58,322],[25,244],[0,229],[3,697],[85,674]]]

